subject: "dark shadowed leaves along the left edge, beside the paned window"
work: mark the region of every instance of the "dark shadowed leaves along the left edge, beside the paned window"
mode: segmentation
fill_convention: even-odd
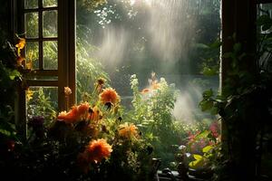
[[[16,70],[16,49],[9,42],[0,44],[0,139],[16,138],[14,104],[15,88],[21,74]],[[6,140],[5,140],[6,141]]]

